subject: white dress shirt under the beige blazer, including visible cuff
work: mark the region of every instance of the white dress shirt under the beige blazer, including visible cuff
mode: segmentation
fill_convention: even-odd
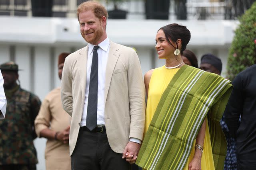
[[[88,94],[90,86],[90,75],[92,68],[92,54],[93,47],[88,43],[88,57],[87,57],[87,73],[86,73],[86,87],[85,87],[85,97],[84,97],[84,110],[82,115],[82,120],[80,126],[86,126],[86,116],[87,116],[87,106],[88,106]],[[108,53],[110,41],[108,37],[98,44],[98,104],[97,104],[97,125],[105,126],[105,77],[106,77],[106,66],[108,61]],[[140,139],[130,138],[130,142],[141,143]]]

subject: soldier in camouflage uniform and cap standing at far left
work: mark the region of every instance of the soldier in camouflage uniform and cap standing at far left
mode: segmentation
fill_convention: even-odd
[[[34,120],[41,102],[16,83],[18,65],[0,65],[7,99],[6,117],[0,121],[0,170],[36,170]]]

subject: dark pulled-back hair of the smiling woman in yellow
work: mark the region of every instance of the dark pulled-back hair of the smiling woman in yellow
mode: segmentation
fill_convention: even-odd
[[[171,44],[170,40],[176,42],[177,39],[181,39],[182,47],[181,47],[180,53],[182,54],[183,51],[186,49],[186,46],[190,40],[190,31],[187,29],[187,27],[183,25],[179,25],[177,23],[172,23],[160,29],[164,31],[164,35],[170,44]]]

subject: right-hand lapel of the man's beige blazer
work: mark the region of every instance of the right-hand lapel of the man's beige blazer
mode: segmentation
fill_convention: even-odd
[[[106,66],[105,102],[108,96],[108,89],[110,86],[112,74],[116,66],[116,62],[118,60],[119,55],[120,53],[118,53],[118,48],[116,48],[115,44],[112,41],[110,41],[110,49],[108,54],[107,66]]]

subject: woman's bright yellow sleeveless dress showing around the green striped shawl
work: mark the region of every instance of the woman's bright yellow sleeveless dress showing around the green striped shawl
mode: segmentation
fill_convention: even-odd
[[[146,107],[146,121],[145,121],[145,130],[144,134],[148,130],[149,124],[153,118],[153,115],[156,111],[156,107],[160,101],[160,98],[168,86],[169,82],[172,80],[174,74],[179,70],[179,68],[167,69],[165,66],[155,68],[148,87],[148,100]],[[195,146],[196,140],[194,141],[193,146]],[[188,158],[184,170],[188,170],[188,165],[194,157],[195,149],[192,147],[191,154]],[[210,141],[209,127],[206,117],[206,132],[204,138],[204,151],[201,159],[201,168],[202,170],[215,170],[213,156],[212,156],[212,147]]]

